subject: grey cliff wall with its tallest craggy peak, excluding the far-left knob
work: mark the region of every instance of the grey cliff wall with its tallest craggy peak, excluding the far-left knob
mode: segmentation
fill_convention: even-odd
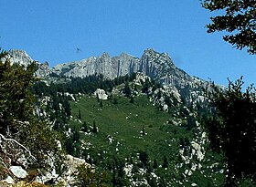
[[[146,49],[141,58],[128,54],[118,57],[110,57],[103,53],[101,57],[90,57],[77,62],[59,64],[50,70],[59,76],[82,78],[95,74],[102,74],[105,78],[117,78],[141,72],[151,78],[162,78],[164,82],[166,75],[173,77],[189,78],[182,70],[176,68],[171,58],[166,53],[157,53],[153,49]],[[166,74],[167,73],[167,74]]]

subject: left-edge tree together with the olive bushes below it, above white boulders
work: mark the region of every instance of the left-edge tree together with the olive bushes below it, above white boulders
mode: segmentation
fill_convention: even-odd
[[[37,161],[29,167],[40,169],[41,172],[47,171],[50,167],[48,156],[53,154],[56,160],[60,158],[57,146],[59,135],[50,130],[45,120],[34,114],[36,99],[31,93],[31,87],[37,80],[34,77],[36,63],[27,68],[11,65],[6,54],[0,53],[0,133],[31,151]],[[0,145],[0,150],[1,161],[9,158],[17,162],[17,155],[13,155],[16,150],[14,146],[5,152]]]

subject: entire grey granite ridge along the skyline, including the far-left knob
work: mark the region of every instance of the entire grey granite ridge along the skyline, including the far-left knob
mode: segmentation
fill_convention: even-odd
[[[25,64],[32,61],[24,51],[13,50],[10,56],[15,61]],[[187,85],[197,87],[204,81],[189,76],[182,69],[176,68],[167,53],[158,53],[154,49],[144,50],[141,58],[128,54],[111,57],[103,53],[100,57],[89,57],[80,61],[59,64],[54,68],[48,67],[48,62],[38,63],[36,75],[41,78],[50,78],[51,75],[66,78],[85,78],[90,75],[102,74],[104,78],[117,78],[131,73],[141,72],[154,78],[164,85],[185,87]]]

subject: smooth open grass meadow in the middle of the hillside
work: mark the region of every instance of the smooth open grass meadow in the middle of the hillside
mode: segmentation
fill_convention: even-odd
[[[86,121],[89,126],[92,126],[95,121],[99,133],[92,136],[83,136],[81,133],[81,136],[85,140],[93,141],[93,145],[98,148],[99,146],[110,147],[108,135],[123,145],[119,150],[124,152],[141,150],[149,151],[153,155],[158,144],[169,145],[170,142],[168,143],[167,140],[171,139],[171,134],[160,130],[169,119],[169,114],[156,109],[146,96],[135,98],[133,103],[130,103],[127,98],[120,97],[117,102],[112,104],[109,100],[102,100],[102,107],[100,107],[97,99],[84,96],[79,102],[71,103],[73,120],[70,123],[81,127],[77,120],[79,109],[82,123]],[[143,129],[145,135],[140,133]],[[116,146],[116,143],[112,144]]]

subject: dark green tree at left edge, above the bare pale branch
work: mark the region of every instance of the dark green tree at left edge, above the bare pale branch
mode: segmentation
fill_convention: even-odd
[[[6,53],[1,52],[0,58]],[[8,59],[0,62],[0,131],[1,133],[16,133],[20,130],[18,121],[32,119],[34,97],[29,88],[36,80],[33,63],[24,69],[11,65]],[[9,130],[9,132],[7,132]]]

